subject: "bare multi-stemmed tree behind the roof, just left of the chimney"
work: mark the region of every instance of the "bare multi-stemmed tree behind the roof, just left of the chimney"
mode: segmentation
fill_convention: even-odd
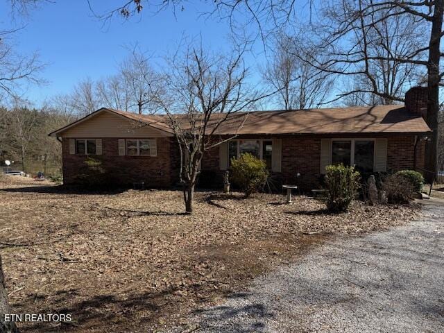
[[[405,60],[422,43],[421,23],[411,15],[386,17],[386,10],[364,15],[359,6],[362,1],[327,3],[313,31],[320,35],[316,49],[323,57],[305,54],[311,65],[350,77],[352,85],[345,85],[337,99],[359,94],[374,104],[404,101],[404,92],[420,78],[420,68]]]

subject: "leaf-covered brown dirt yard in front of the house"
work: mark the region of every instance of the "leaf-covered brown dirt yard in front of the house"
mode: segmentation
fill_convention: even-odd
[[[418,207],[325,214],[322,203],[261,194],[180,191],[79,194],[49,182],[0,180],[0,250],[15,313],[72,314],[69,324],[19,323],[22,332],[155,332],[298,260],[336,232],[406,223]]]

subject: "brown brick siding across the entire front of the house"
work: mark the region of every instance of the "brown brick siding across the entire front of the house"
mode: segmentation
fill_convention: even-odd
[[[281,137],[282,173],[275,176],[288,184],[298,184],[302,189],[319,187],[321,180],[320,137]],[[179,180],[180,156],[174,138],[157,138],[157,157],[119,156],[118,139],[103,138],[103,155],[92,157],[102,161],[102,167],[110,182],[116,185],[131,185],[145,182],[147,187],[169,187]],[[398,171],[413,169],[414,137],[389,137],[387,169]],[[85,155],[69,154],[69,139],[62,140],[63,177],[66,184],[75,183],[75,178],[85,167]],[[416,168],[424,167],[424,142],[417,145]],[[203,187],[222,187],[222,172],[219,170],[219,146],[205,152],[200,177]],[[300,173],[300,178],[296,174]]]

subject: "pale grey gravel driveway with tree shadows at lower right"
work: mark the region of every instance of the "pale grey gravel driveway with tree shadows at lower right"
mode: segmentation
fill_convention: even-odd
[[[407,226],[336,238],[257,278],[196,313],[189,332],[444,332],[444,203],[423,210]]]

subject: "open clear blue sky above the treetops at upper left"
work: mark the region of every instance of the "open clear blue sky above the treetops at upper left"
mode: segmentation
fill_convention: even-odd
[[[96,12],[123,3],[121,0],[92,0]],[[104,5],[106,3],[106,5]],[[148,10],[142,15],[124,20],[115,17],[108,24],[97,19],[86,0],[57,0],[46,3],[30,12],[25,18],[11,19],[8,1],[0,3],[0,27],[9,29],[26,24],[15,34],[13,42],[20,53],[40,53],[40,60],[48,64],[42,78],[48,83],[42,87],[29,87],[26,97],[40,105],[57,94],[70,92],[83,78],[93,80],[113,74],[117,64],[128,55],[128,46],[138,44],[156,57],[173,51],[183,35],[200,38],[212,49],[223,49],[227,44],[228,25],[216,19],[198,17],[205,11],[200,3],[196,8],[187,3],[184,11],[171,10],[151,15]],[[210,5],[211,6],[211,3]],[[260,53],[260,50],[258,51]],[[257,67],[262,62],[260,54],[248,56],[248,65]]]

